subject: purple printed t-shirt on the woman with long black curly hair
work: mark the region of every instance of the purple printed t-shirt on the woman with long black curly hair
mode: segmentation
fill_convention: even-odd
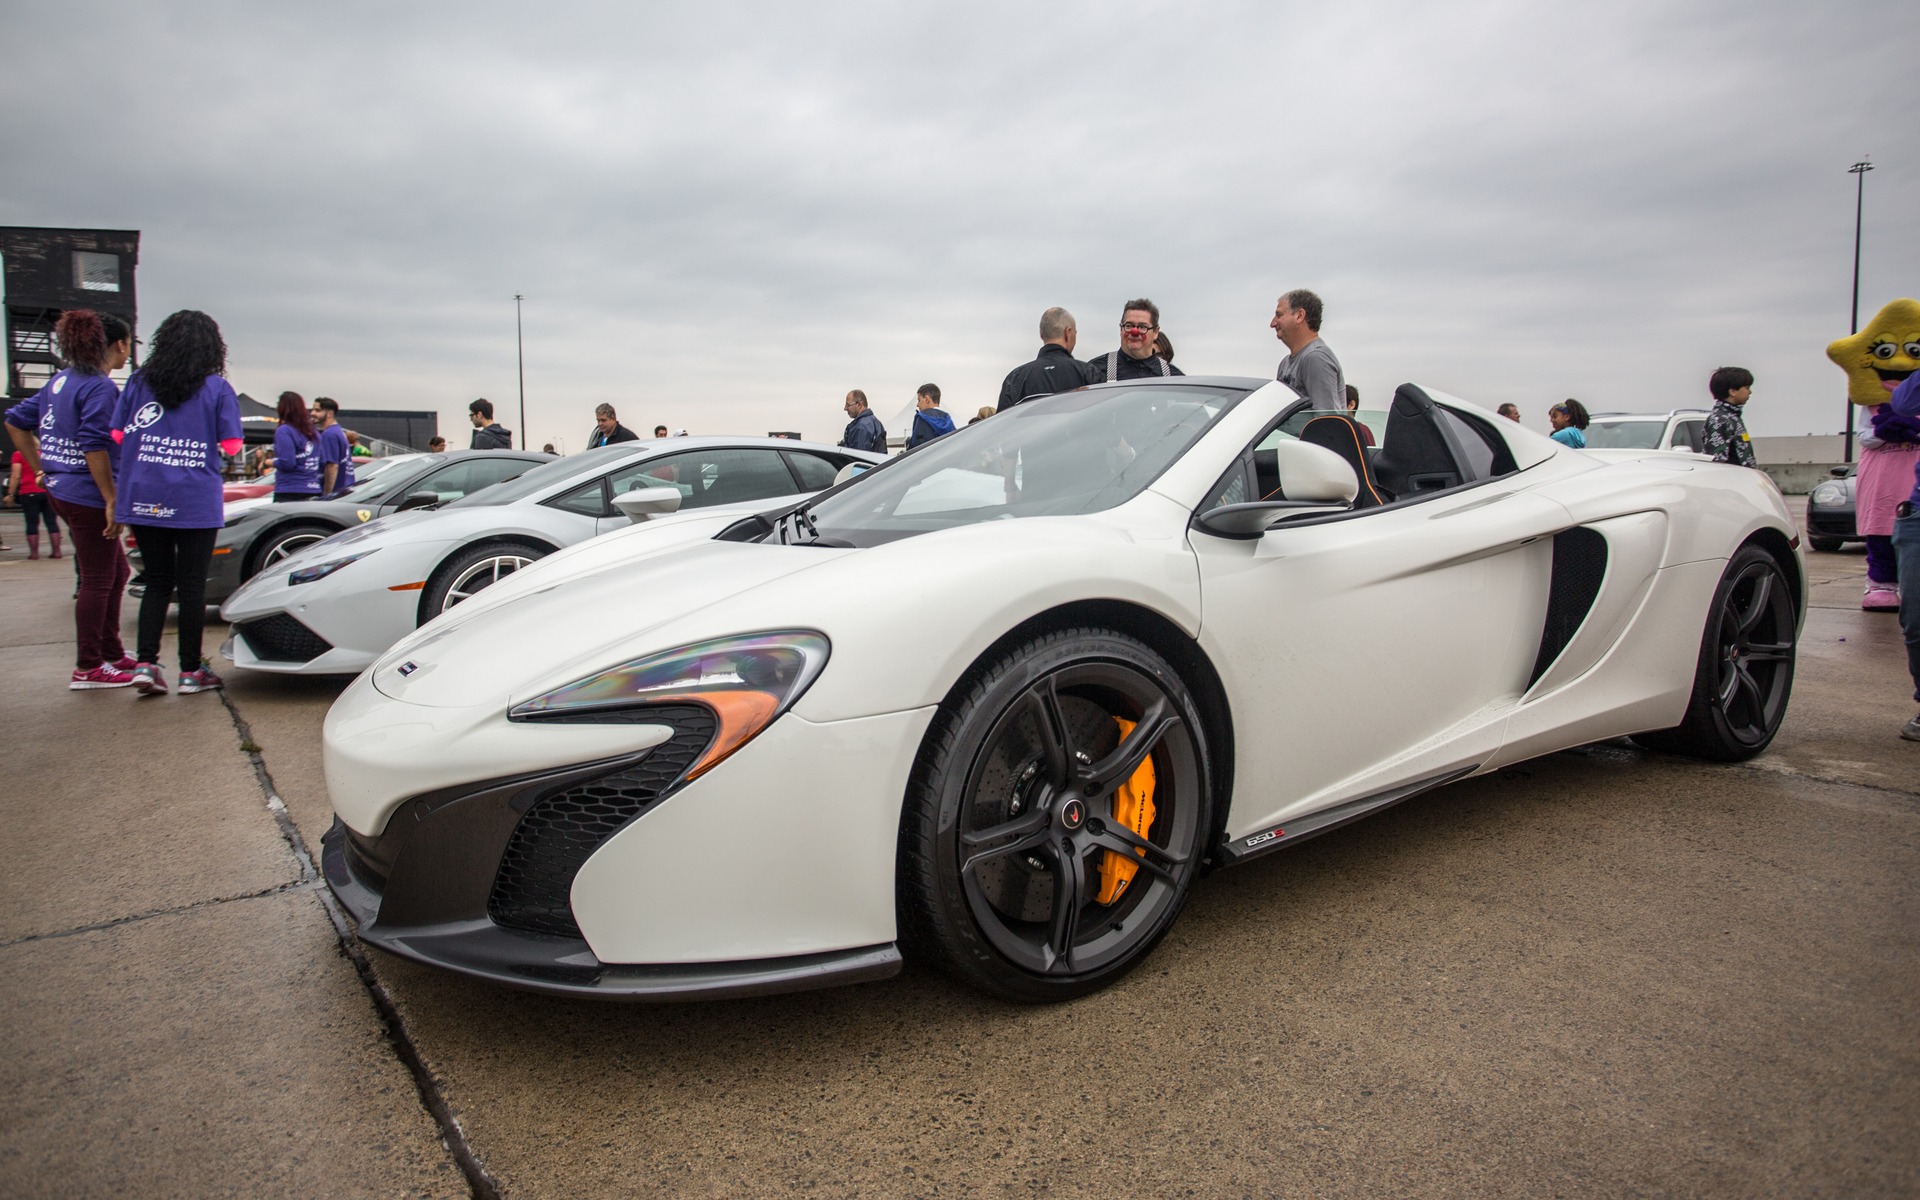
[[[163,409],[146,378],[134,372],[113,409],[113,426],[125,432],[115,520],[173,530],[225,524],[221,442],[242,436],[240,397],[227,380],[209,374],[192,396]]]

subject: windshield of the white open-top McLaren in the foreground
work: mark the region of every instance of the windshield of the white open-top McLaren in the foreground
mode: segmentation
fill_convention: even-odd
[[[1183,380],[1027,401],[808,505],[808,532],[874,545],[981,520],[1100,513],[1139,495],[1248,392]]]

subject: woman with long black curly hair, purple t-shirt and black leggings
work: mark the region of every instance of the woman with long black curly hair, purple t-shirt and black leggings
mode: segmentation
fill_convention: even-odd
[[[221,455],[240,453],[240,397],[223,378],[227,342],[213,317],[182,309],[159,323],[146,363],[113,411],[121,488],[113,515],[146,563],[140,597],[140,695],[165,695],[159,637],[180,601],[180,695],[221,685],[200,653],[207,624],[207,566],[221,532]]]

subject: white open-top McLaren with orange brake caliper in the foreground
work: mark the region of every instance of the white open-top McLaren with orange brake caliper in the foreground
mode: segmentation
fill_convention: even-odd
[[[1106,987],[1210,870],[1592,741],[1766,749],[1805,607],[1757,470],[1407,384],[1029,401],[806,499],[563,549],[326,718],[359,937],[680,1000]],[[851,474],[847,468],[843,474]]]

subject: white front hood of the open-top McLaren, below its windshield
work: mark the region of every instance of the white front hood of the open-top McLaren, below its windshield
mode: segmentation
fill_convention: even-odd
[[[651,632],[687,612],[860,553],[710,541],[712,524],[626,530],[659,534],[657,545],[622,540],[618,557],[576,555],[551,572],[528,568],[509,595],[482,595],[399,641],[372,666],[372,685],[434,708],[520,703],[660,649]],[[605,541],[588,545],[609,549]],[[620,628],[582,620],[588,612],[618,612]]]

